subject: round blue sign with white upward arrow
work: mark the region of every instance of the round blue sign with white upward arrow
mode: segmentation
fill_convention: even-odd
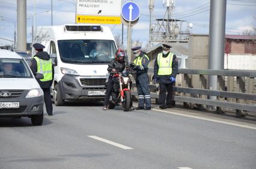
[[[137,20],[139,13],[139,6],[135,2],[126,2],[122,7],[122,17],[129,22]]]

